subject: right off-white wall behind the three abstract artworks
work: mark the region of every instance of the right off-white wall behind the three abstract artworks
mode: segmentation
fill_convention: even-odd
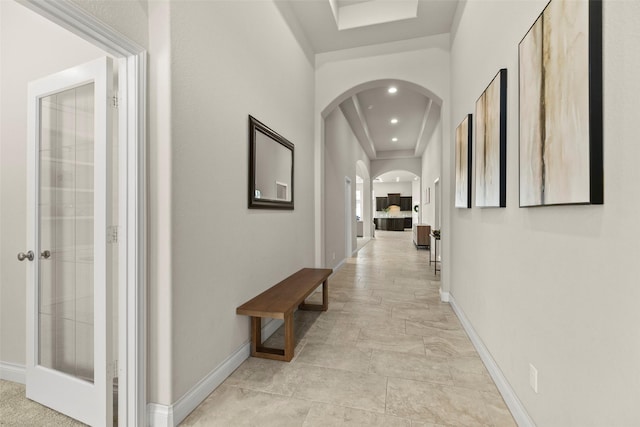
[[[640,3],[603,2],[605,204],[521,209],[518,43],[545,4],[469,1],[452,38],[450,123],[506,67],[508,124],[507,207],[452,213],[451,293],[537,425],[640,425]]]

